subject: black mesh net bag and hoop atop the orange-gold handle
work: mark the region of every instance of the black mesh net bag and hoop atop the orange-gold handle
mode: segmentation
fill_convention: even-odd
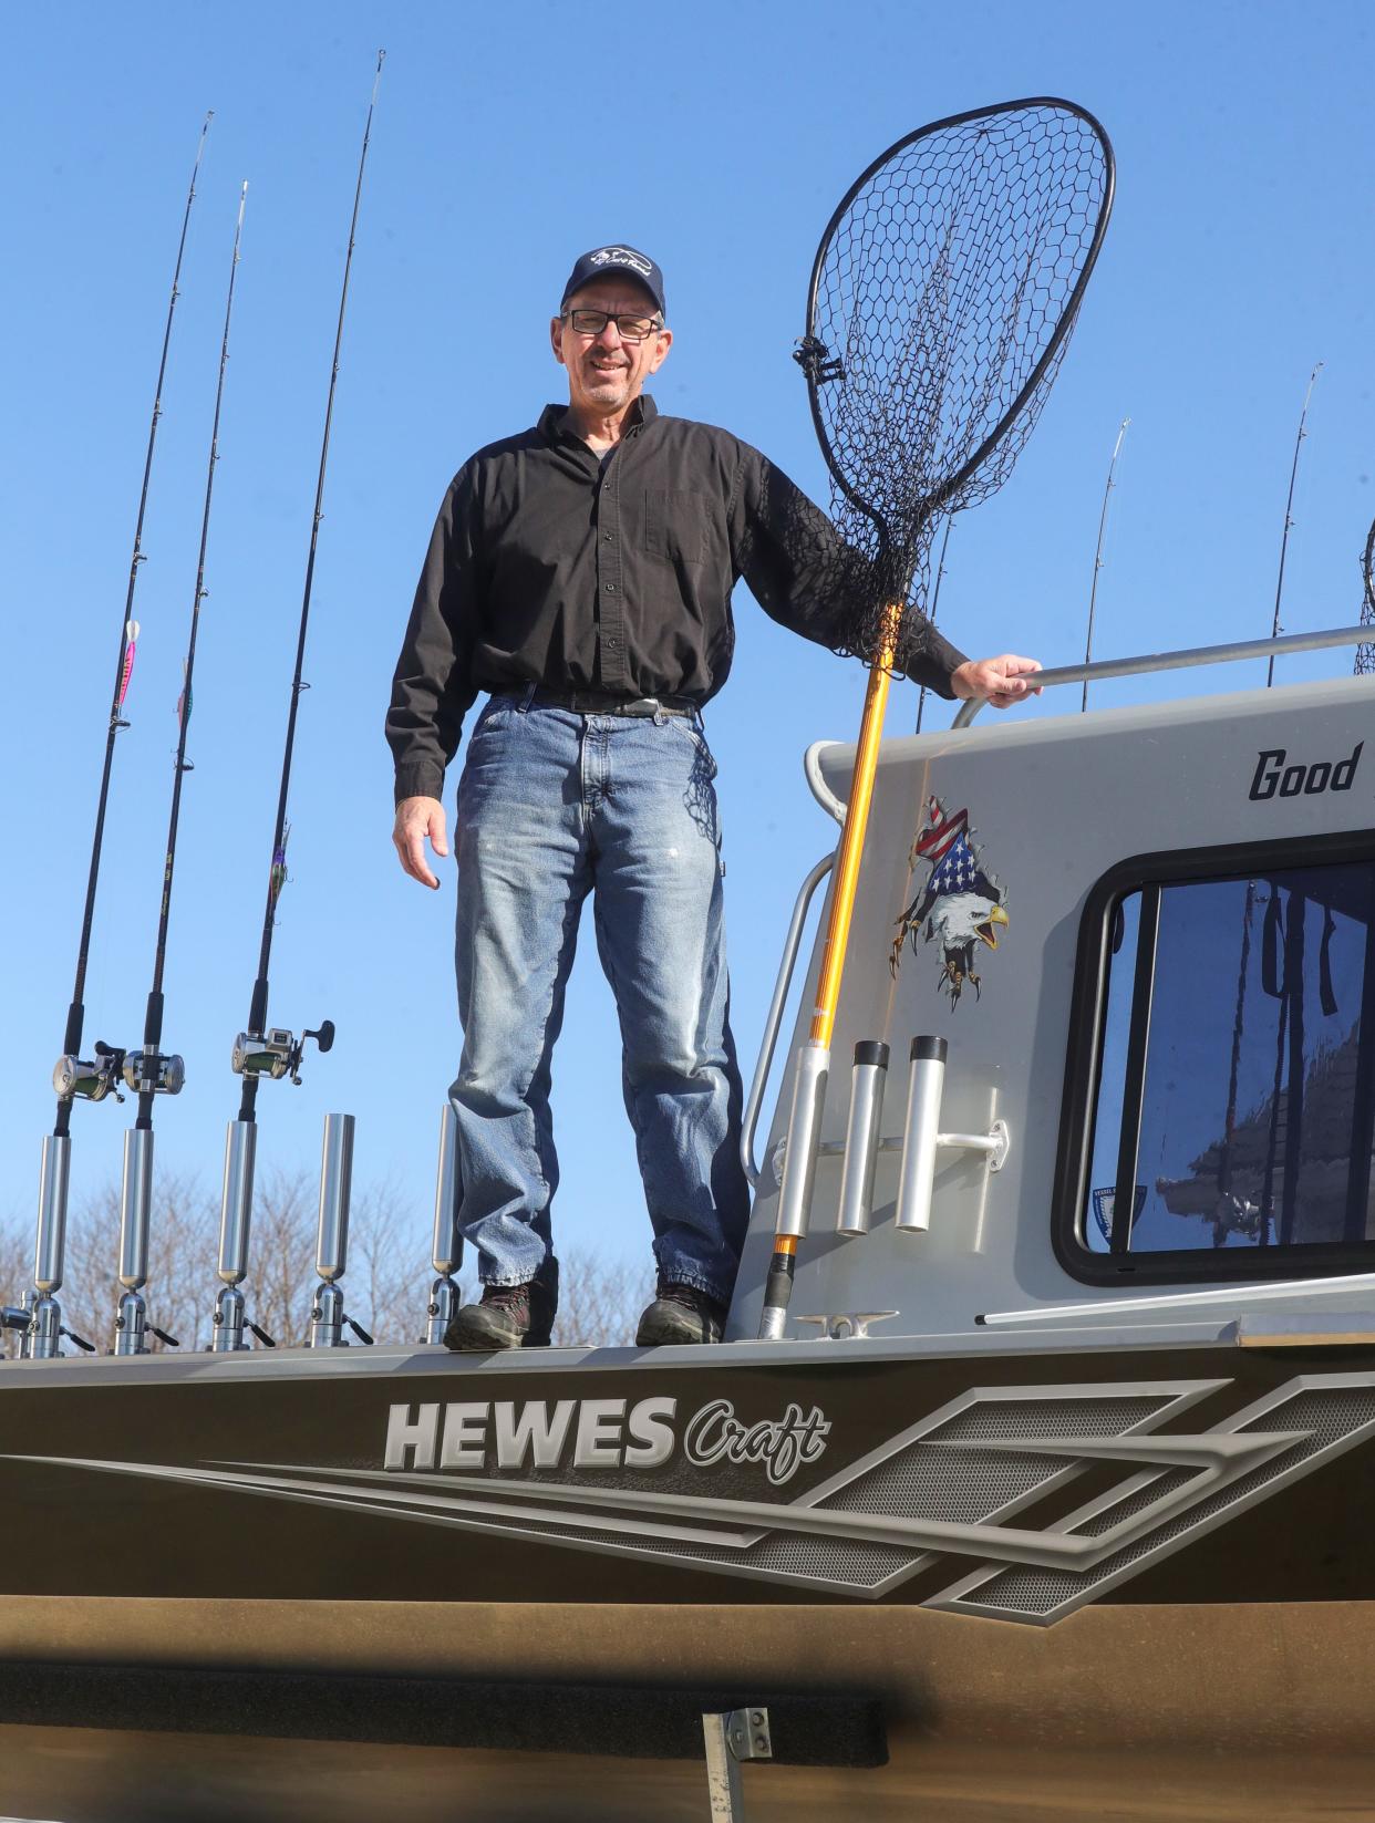
[[[1069,102],[1008,102],[899,140],[822,235],[797,359],[861,561],[835,649],[897,664],[943,514],[1007,479],[1045,405],[1112,206],[1112,149]],[[905,638],[906,634],[906,638]]]

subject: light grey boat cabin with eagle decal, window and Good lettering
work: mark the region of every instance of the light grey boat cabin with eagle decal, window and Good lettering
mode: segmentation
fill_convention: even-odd
[[[1308,1307],[1375,1269],[1370,735],[1370,682],[1349,678],[884,742],[793,1334],[1216,1331],[1273,1307],[1277,1280]],[[852,764],[812,749],[822,808],[843,809]],[[923,1074],[943,1081],[917,1194]],[[852,1081],[877,1123],[859,1201]],[[759,1320],[788,1096],[759,1158],[757,1112],[759,1081],[737,1338]]]

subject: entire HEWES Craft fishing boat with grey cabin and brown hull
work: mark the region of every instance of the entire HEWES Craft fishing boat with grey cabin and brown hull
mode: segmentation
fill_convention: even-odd
[[[1370,1814],[1371,682],[970,722],[883,746],[784,1340],[830,857],[724,1345],[336,1347],[325,1298],[0,1371],[0,1808]],[[336,1300],[345,1214],[332,1169]]]

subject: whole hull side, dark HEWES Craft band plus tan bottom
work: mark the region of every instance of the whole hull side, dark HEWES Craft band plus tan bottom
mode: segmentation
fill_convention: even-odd
[[[474,1739],[494,1684],[514,1717],[605,1686],[881,1705],[886,1766],[748,1768],[751,1818],[1174,1814],[1123,1797],[1147,1768],[1180,1816],[1253,1816],[1258,1756],[1266,1814],[1302,1818],[1295,1768],[1329,1807],[1371,1770],[1359,1344],[22,1364],[0,1453],[15,1814],[184,1818],[193,1768],[206,1818],[248,1777],[294,1823],[460,1787],[465,1818],[700,1816],[653,1737]],[[284,1679],[270,1728],[243,1672]],[[357,1675],[438,1681],[452,1728],[372,1739]]]

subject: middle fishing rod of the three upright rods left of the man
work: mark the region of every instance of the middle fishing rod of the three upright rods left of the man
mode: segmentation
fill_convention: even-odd
[[[239,275],[239,246],[244,230],[248,184],[239,191],[239,219],[233,228],[233,259],[230,286],[224,299],[224,334],[219,345],[219,379],[215,383],[215,414],[210,425],[210,459],[206,463],[206,500],[201,512],[201,549],[195,563],[195,594],[191,596],[191,627],[182,660],[182,693],[177,700],[177,757],[171,766],[171,809],[168,815],[168,851],[162,862],[162,902],[157,915],[157,946],[153,950],[153,984],[144,1010],[142,1048],[122,1056],[122,1074],[139,1096],[139,1114],[124,1134],[124,1179],[119,1212],[119,1282],[124,1293],[115,1318],[115,1353],[146,1354],[148,1331],[177,1347],[175,1336],[148,1322],[142,1287],[148,1283],[148,1223],[153,1200],[153,1103],[159,1096],[181,1094],[186,1065],[175,1054],[162,1050],[162,981],[168,961],[168,926],[171,921],[171,881],[177,868],[177,828],[181,822],[181,793],[191,760],[186,758],[186,735],[191,726],[191,693],[195,687],[195,644],[201,631],[201,603],[206,600],[206,543],[210,540],[210,507],[215,494],[219,465],[219,419],[224,403],[224,370],[230,365],[230,321],[233,317],[233,281]]]

